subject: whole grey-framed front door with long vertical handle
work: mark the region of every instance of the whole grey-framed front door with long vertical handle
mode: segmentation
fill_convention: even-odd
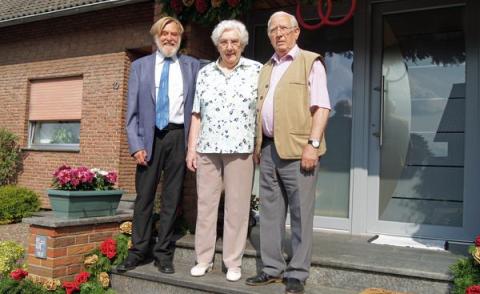
[[[467,12],[478,5],[468,5],[373,5],[371,233],[467,240],[480,229],[478,29]]]

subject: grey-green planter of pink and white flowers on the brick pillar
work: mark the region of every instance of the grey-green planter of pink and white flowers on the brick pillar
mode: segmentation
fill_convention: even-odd
[[[123,191],[115,188],[117,173],[63,165],[53,173],[47,194],[58,218],[115,215]]]

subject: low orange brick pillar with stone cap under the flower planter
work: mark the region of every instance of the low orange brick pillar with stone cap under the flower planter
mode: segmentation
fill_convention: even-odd
[[[23,222],[30,224],[27,255],[29,276],[40,281],[72,280],[84,270],[85,254],[105,239],[118,234],[120,224],[131,219],[131,212],[72,220],[58,219],[46,213],[43,217],[24,219]],[[45,258],[35,254],[37,236],[45,236]]]

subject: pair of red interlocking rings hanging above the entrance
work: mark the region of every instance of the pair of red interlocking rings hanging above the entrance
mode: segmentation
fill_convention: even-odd
[[[300,9],[300,0],[297,0],[297,11],[296,11],[296,16],[297,20],[300,23],[300,25],[307,30],[316,30],[322,27],[323,25],[329,25],[329,26],[339,26],[347,21],[349,21],[353,13],[355,12],[355,8],[357,7],[357,0],[351,0],[351,5],[348,13],[341,19],[339,20],[330,20],[330,16],[332,14],[332,0],[327,0],[327,11],[326,13],[323,13],[323,0],[318,0],[317,4],[317,13],[318,16],[320,17],[320,22],[315,24],[315,25],[310,25],[305,22],[305,20],[302,17],[302,12]]]

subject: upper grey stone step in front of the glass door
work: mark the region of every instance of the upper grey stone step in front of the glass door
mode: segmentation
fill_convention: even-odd
[[[258,228],[247,242],[242,271],[253,275],[262,268],[259,258]],[[316,233],[309,284],[361,291],[384,288],[422,294],[449,293],[452,277],[448,267],[459,255],[424,249],[368,243],[371,236]],[[193,266],[194,236],[177,241],[175,263]],[[286,246],[288,252],[288,246]],[[222,242],[217,240],[215,267],[222,268]]]

